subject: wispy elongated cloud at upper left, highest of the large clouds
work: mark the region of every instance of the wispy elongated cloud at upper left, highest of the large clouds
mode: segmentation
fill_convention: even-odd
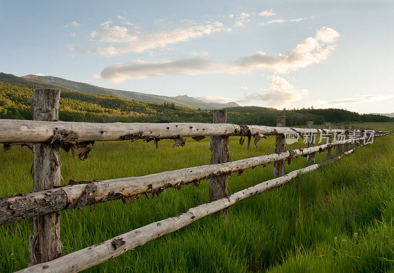
[[[204,35],[211,35],[219,31],[230,31],[225,29],[221,22],[209,22],[206,25],[194,25],[181,27],[172,30],[165,30],[156,33],[144,32],[139,27],[126,28],[121,26],[111,26],[112,22],[107,21],[102,28],[92,32],[91,38],[98,38],[101,43],[126,44],[115,48],[113,45],[100,47],[90,52],[99,55],[116,55],[121,53],[140,53],[154,48],[162,48],[170,44],[188,41]]]

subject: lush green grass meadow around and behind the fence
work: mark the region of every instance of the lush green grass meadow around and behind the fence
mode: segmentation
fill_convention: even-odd
[[[350,124],[390,129],[392,123]],[[322,126],[317,126],[318,128]],[[230,137],[231,160],[273,153],[274,137],[249,150]],[[85,161],[61,152],[64,183],[140,176],[209,164],[209,138],[173,141],[98,142]],[[288,148],[305,147],[293,144]],[[334,152],[335,154],[335,152]],[[325,160],[325,153],[316,161]],[[32,153],[0,152],[0,196],[32,190]],[[292,160],[286,171],[306,166]],[[273,165],[233,174],[230,193],[273,178]],[[208,181],[199,188],[167,189],[132,205],[121,201],[61,213],[63,251],[70,253],[208,202]],[[0,271],[25,268],[31,221],[0,226]],[[230,207],[228,220],[210,215],[155,239],[89,272],[393,272],[394,134],[279,188]]]

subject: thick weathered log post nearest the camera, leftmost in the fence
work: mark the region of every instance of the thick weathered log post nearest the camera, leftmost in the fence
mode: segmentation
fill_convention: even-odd
[[[33,90],[33,120],[59,120],[59,89]],[[59,148],[48,142],[33,145],[33,191],[60,186]],[[60,241],[60,212],[33,217],[33,235],[29,238],[30,263],[45,263],[63,255]]]

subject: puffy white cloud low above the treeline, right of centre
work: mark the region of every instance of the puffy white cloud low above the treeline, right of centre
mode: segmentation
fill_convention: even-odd
[[[246,96],[243,102],[260,101],[269,107],[283,107],[299,101],[308,95],[306,89],[298,89],[289,83],[285,78],[280,76],[268,77],[271,82],[269,89],[263,90],[263,93],[255,93]]]

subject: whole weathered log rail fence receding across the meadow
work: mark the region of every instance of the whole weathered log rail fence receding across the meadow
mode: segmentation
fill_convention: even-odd
[[[34,89],[32,100],[33,121],[0,120],[0,143],[4,151],[13,145],[27,145],[33,150],[33,192],[0,199],[0,225],[33,219],[33,235],[29,239],[30,264],[21,272],[79,272],[98,265],[147,241],[189,225],[197,219],[224,210],[246,197],[290,181],[299,173],[316,170],[316,152],[327,152],[327,162],[350,154],[356,146],[370,143],[376,136],[390,131],[371,128],[313,129],[313,122],[306,129],[285,127],[285,117],[277,117],[277,127],[235,125],[227,123],[225,110],[213,111],[212,124],[206,123],[83,123],[59,120],[60,91],[58,89]],[[308,147],[285,150],[285,139],[307,137]],[[315,136],[326,136],[326,143],[315,146]],[[340,136],[332,141],[332,134]],[[275,153],[230,162],[229,136],[240,136],[242,145],[247,139],[249,148],[265,136],[276,136]],[[185,145],[183,137],[191,136],[199,141],[210,136],[211,165],[165,171],[141,177],[117,178],[101,181],[70,181],[60,186],[59,148],[78,151],[85,160],[94,141],[143,139],[154,141],[174,139],[174,146]],[[336,157],[332,156],[332,148]],[[343,150],[344,149],[344,150]],[[306,156],[308,167],[285,174],[284,161],[296,156]],[[274,179],[264,181],[240,192],[228,194],[228,175],[248,168],[274,163]],[[155,222],[94,246],[63,255],[60,240],[60,211],[82,209],[86,205],[129,199],[134,202],[141,194],[160,193],[169,187],[197,183],[210,178],[210,203],[190,208],[186,212],[163,221]]]

